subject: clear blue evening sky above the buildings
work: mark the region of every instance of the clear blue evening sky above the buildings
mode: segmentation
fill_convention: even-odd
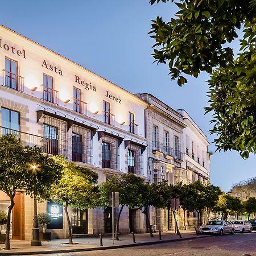
[[[173,109],[185,109],[212,142],[209,134],[208,76],[188,78],[181,88],[170,80],[168,66],[156,65],[154,40],[147,34],[151,20],[169,20],[175,5],[149,0],[12,0],[1,2],[0,24],[75,61],[131,93],[151,93]],[[238,44],[234,44],[238,48]],[[209,151],[214,152],[213,143]],[[215,152],[210,183],[225,192],[234,183],[256,175],[256,156],[243,160],[237,152]]]

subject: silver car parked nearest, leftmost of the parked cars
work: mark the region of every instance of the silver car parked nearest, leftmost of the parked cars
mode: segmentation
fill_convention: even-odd
[[[207,224],[199,226],[197,232],[200,234],[219,234],[224,233],[234,234],[234,225],[229,221],[208,221]]]

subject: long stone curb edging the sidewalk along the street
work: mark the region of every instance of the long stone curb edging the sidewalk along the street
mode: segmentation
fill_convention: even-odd
[[[0,251],[0,256],[4,255],[37,255],[37,254],[54,254],[54,253],[77,253],[80,251],[98,251],[98,250],[109,250],[109,249],[119,249],[125,247],[134,247],[134,246],[143,246],[143,245],[155,245],[158,243],[169,243],[169,242],[176,242],[176,241],[185,241],[185,240],[193,240],[199,238],[205,238],[209,236],[196,236],[196,237],[185,237],[185,238],[177,238],[171,240],[159,240],[159,241],[152,241],[152,242],[142,242],[142,243],[127,243],[127,245],[115,245],[115,246],[103,246],[103,247],[92,247],[92,248],[80,248],[80,249],[64,249],[64,250],[50,250],[50,251],[11,251],[9,252],[2,252]]]

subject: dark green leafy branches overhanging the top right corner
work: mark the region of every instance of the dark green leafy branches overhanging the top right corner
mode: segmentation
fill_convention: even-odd
[[[151,0],[168,2],[168,0]],[[171,0],[173,3],[174,0]],[[168,63],[171,79],[180,86],[186,75],[209,73],[210,106],[213,112],[211,133],[216,134],[217,150],[237,150],[243,158],[256,152],[256,1],[180,0],[179,11],[170,22],[159,16],[152,20],[151,38],[155,39],[154,58]],[[238,42],[234,57],[229,43]]]

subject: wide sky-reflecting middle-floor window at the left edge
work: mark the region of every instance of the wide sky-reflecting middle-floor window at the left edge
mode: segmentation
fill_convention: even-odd
[[[2,108],[2,126],[19,131],[19,112]]]

